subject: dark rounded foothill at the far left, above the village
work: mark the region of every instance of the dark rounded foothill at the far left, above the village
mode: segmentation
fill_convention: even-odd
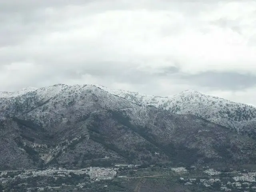
[[[39,146],[37,149],[36,146]],[[42,128],[19,119],[0,120],[0,169],[38,168],[43,165],[39,153],[52,142]]]

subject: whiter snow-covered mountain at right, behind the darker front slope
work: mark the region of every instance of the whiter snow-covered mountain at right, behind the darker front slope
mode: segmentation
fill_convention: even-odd
[[[152,105],[174,114],[193,114],[256,138],[253,125],[256,123],[256,107],[236,103],[195,90],[186,90],[174,96],[160,97],[124,90],[112,90],[98,86],[138,105]]]

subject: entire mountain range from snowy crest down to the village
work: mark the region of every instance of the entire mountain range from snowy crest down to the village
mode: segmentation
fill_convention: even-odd
[[[17,93],[0,98],[2,170],[256,160],[256,140],[237,132],[245,125],[255,131],[252,106],[196,91],[164,98],[92,85]]]

